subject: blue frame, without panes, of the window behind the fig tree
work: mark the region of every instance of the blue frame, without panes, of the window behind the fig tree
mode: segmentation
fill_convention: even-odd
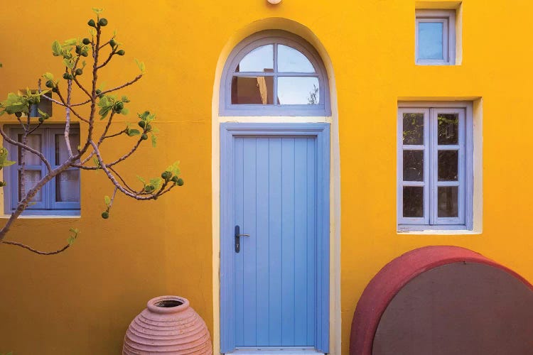
[[[13,138],[17,139],[18,134],[22,134],[23,131],[18,126],[6,126],[6,133]],[[45,158],[50,162],[52,168],[57,168],[55,164],[55,135],[60,134],[63,136],[65,129],[58,125],[50,125],[37,129],[32,134],[41,135],[41,152],[45,155]],[[71,126],[71,133],[80,133],[80,129],[76,126]],[[6,190],[4,190],[4,213],[11,214],[14,212],[18,204],[18,147],[5,143],[9,148],[9,160],[13,160],[16,163],[9,168],[4,169],[4,180],[7,182]],[[32,154],[26,152],[26,154]],[[46,174],[46,167],[41,162],[40,165],[26,165],[28,170],[41,170],[41,176]],[[80,171],[76,168],[70,168],[69,170]],[[81,186],[81,177],[78,177],[78,181]],[[55,201],[55,179],[48,182],[41,190],[41,202],[33,202],[33,204],[26,207],[23,215],[58,215],[58,216],[80,216],[80,200],[81,196],[78,196],[77,202],[58,202]]]

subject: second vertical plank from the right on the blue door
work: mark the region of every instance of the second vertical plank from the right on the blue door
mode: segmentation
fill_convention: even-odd
[[[307,342],[307,138],[294,140],[294,345]]]

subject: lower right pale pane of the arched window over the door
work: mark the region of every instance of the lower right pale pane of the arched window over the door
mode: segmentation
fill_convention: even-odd
[[[278,104],[318,105],[319,103],[318,77],[278,78]]]

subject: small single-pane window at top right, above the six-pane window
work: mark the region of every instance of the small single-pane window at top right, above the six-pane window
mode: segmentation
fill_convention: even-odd
[[[456,11],[416,10],[415,58],[419,65],[456,64]]]

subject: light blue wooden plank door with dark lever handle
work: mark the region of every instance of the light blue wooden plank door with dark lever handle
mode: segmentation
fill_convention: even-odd
[[[318,208],[318,200],[323,200],[318,136],[252,134],[230,139],[227,207],[232,209],[232,224],[249,236],[239,237],[238,249],[235,236],[222,239],[232,244],[231,249],[222,248],[231,254],[221,254],[232,258],[231,274],[221,275],[221,283],[232,285],[227,297],[221,297],[227,311],[221,324],[228,328],[221,333],[232,333],[227,334],[229,344],[222,340],[222,351],[318,349],[319,343],[327,343],[317,339],[318,333],[323,337],[328,329],[321,307],[327,302],[323,294],[328,292],[328,277],[321,266],[328,249],[317,237],[323,227],[318,216],[323,213]]]

